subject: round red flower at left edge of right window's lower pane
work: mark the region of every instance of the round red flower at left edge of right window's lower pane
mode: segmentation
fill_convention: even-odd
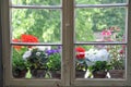
[[[76,59],[84,59],[85,58],[85,49],[82,47],[75,48],[76,51]]]

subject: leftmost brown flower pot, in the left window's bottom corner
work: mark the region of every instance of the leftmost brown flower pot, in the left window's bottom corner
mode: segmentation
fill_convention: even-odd
[[[23,70],[23,71],[15,70],[12,73],[13,73],[13,77],[15,77],[15,78],[23,78],[23,77],[25,77],[25,75],[27,73],[27,70]]]

